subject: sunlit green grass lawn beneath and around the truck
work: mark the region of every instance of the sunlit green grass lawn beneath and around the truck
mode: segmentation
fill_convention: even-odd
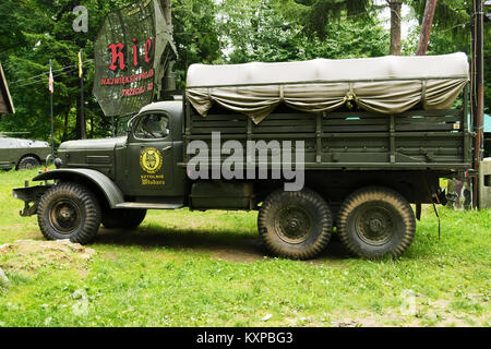
[[[44,241],[11,197],[35,173],[0,173],[0,245]],[[149,212],[136,230],[100,229],[84,264],[1,256],[0,326],[489,326],[491,210],[440,210],[441,240],[426,207],[403,257],[379,262],[337,241],[313,261],[272,257],[256,213]]]

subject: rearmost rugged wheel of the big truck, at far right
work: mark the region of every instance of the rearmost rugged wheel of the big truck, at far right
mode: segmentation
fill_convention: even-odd
[[[343,202],[337,231],[342,243],[356,256],[398,257],[415,238],[416,219],[403,195],[383,186],[367,186]]]

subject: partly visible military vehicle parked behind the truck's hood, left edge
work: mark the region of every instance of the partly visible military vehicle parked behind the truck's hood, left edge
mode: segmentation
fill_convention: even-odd
[[[0,134],[0,169],[32,169],[46,161],[51,154],[47,142],[8,137]]]

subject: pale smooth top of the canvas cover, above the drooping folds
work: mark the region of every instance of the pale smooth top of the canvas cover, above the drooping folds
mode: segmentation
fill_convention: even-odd
[[[464,52],[440,56],[385,56],[357,59],[314,59],[294,62],[192,64],[188,88],[302,83],[467,79]]]

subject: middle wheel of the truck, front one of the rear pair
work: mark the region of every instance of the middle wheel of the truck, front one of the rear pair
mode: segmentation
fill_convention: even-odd
[[[277,190],[263,202],[258,230],[266,249],[275,255],[308,260],[330,242],[333,218],[325,200],[312,190]]]

